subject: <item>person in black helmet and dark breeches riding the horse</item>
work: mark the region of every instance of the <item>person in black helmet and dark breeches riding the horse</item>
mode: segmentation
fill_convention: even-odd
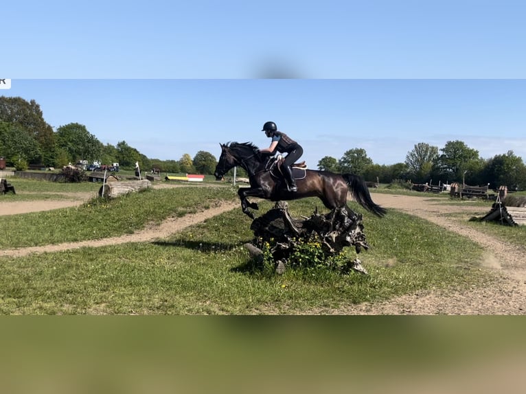
[[[260,152],[274,154],[277,150],[277,152],[287,154],[283,161],[282,171],[285,176],[288,191],[297,192],[296,182],[294,181],[293,171],[290,166],[301,157],[304,152],[303,148],[284,132],[278,131],[273,121],[267,121],[263,125],[262,131],[265,132],[266,137],[272,137],[272,141],[268,148],[264,148],[260,150]]]

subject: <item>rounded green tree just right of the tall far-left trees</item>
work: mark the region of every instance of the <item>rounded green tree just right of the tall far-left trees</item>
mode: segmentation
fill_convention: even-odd
[[[100,141],[86,126],[78,123],[66,124],[56,130],[56,146],[67,152],[71,163],[99,159],[102,152]]]

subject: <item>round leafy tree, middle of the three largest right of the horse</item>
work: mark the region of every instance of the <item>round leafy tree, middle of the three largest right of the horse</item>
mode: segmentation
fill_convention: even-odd
[[[437,157],[435,166],[447,181],[460,181],[468,172],[473,163],[479,161],[479,151],[468,148],[463,141],[448,141],[440,150],[442,154]]]

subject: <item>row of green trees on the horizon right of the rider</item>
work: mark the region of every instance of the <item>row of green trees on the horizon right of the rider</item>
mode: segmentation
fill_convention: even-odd
[[[367,157],[362,148],[347,150],[341,159],[325,156],[318,162],[320,170],[352,172],[369,181],[392,183],[466,183],[487,185],[493,189],[505,185],[510,189],[526,189],[526,165],[512,150],[496,154],[490,159],[480,157],[479,151],[464,141],[447,141],[438,148],[428,143],[417,143],[407,152],[403,163],[378,165]]]

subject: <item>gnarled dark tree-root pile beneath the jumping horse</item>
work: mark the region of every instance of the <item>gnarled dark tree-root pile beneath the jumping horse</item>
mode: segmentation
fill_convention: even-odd
[[[354,246],[356,253],[369,248],[363,233],[362,215],[346,206],[325,215],[316,209],[310,218],[296,219],[290,216],[288,204],[279,201],[273,209],[255,218],[250,228],[255,240],[245,244],[245,247],[252,255],[260,256],[262,251],[258,246],[268,242],[277,273],[284,272],[287,260],[301,242],[320,242],[326,257],[340,253],[345,246]],[[348,262],[342,270],[345,273],[356,270],[367,274],[357,258]]]

